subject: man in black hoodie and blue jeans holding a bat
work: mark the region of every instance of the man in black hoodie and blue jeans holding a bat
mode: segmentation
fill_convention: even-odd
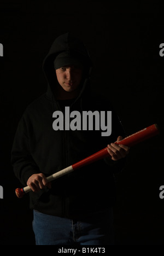
[[[110,101],[91,89],[92,66],[86,46],[79,38],[69,32],[58,36],[43,61],[48,88],[30,103],[17,126],[11,164],[22,185],[32,189],[30,208],[36,245],[114,243],[114,173],[124,168],[129,148],[113,143],[125,137],[125,131]],[[103,85],[99,85],[100,92],[102,88]],[[112,111],[111,135],[102,136],[101,129],[96,127],[60,129],[60,120],[53,117],[54,113],[63,113],[65,120],[65,107],[69,107],[70,113],[81,114]],[[51,183],[47,181],[46,177],[52,173],[96,153],[107,144],[109,156],[106,158]]]

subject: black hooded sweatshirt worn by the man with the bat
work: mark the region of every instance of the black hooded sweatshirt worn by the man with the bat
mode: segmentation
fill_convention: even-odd
[[[54,60],[62,51],[73,51],[85,60],[81,91],[72,101],[58,101],[54,94],[57,83]],[[66,33],[54,41],[43,62],[48,89],[26,108],[11,151],[11,164],[23,186],[27,185],[28,178],[34,173],[42,172],[48,177],[107,147],[119,135],[125,137],[109,100],[105,101],[91,93],[90,68],[89,54],[79,39]],[[56,110],[63,111],[65,106],[70,107],[70,112],[79,111],[81,116],[84,110],[112,110],[112,134],[102,136],[101,130],[55,131],[52,128],[52,114]],[[113,206],[116,198],[113,173],[121,171],[124,160],[108,160],[98,160],[52,181],[51,189],[45,188],[38,193],[31,191],[30,208],[53,216],[89,220],[93,212]]]

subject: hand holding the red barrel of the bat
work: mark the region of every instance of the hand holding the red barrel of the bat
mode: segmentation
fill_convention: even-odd
[[[121,141],[121,140],[122,140],[122,137],[119,136],[117,138],[117,141]],[[129,153],[130,148],[122,144],[111,143],[108,145],[107,150],[110,155],[110,158],[113,161],[117,161],[121,158],[125,158],[125,156]]]

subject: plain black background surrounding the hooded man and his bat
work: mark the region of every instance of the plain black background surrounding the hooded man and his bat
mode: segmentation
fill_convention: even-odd
[[[116,176],[116,245],[163,245],[162,1],[1,1],[1,245],[34,245],[28,195],[10,165],[17,123],[46,90],[42,62],[54,39],[67,31],[86,44],[93,61],[92,88],[108,95],[127,135],[157,123],[160,135],[131,148]]]

